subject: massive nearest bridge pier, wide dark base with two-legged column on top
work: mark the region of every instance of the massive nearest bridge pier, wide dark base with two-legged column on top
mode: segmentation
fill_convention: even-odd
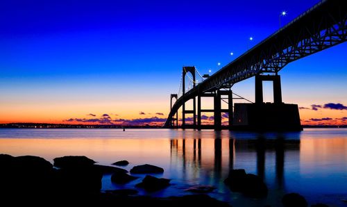
[[[273,103],[264,103],[262,81],[273,82]],[[235,104],[232,130],[302,131],[298,105],[282,103],[280,76],[255,76],[255,104]]]

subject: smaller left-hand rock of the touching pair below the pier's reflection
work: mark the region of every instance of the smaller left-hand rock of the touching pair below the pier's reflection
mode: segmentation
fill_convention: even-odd
[[[229,186],[230,190],[241,192],[244,188],[245,177],[246,172],[244,169],[232,169],[228,177],[224,180],[224,183]]]

